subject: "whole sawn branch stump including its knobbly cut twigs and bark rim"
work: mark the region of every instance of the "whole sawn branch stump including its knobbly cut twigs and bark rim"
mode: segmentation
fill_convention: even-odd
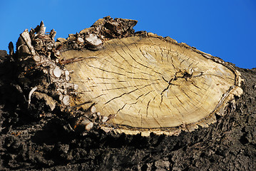
[[[235,68],[172,38],[134,33],[136,23],[105,17],[56,42],[43,22],[21,33],[16,60],[19,81],[31,88],[29,108],[36,98],[70,113],[74,130],[148,136],[208,127],[235,104],[242,94]]]

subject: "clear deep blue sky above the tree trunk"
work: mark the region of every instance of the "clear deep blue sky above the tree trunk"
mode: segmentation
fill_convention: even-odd
[[[0,49],[43,20],[56,38],[104,16],[138,20],[135,31],[170,36],[242,68],[256,68],[255,0],[0,1]]]

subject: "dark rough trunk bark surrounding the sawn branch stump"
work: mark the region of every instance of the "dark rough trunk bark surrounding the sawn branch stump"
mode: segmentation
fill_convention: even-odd
[[[0,170],[256,170],[256,68],[236,69],[244,93],[209,128],[178,136],[80,134],[57,110],[33,117],[16,62],[0,51]]]

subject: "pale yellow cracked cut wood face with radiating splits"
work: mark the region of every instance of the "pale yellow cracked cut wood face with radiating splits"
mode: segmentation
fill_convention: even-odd
[[[176,134],[176,128],[207,127],[232,94],[242,93],[232,66],[163,38],[113,39],[100,51],[63,51],[61,59],[74,59],[65,65],[78,85],[71,106],[95,103],[101,115],[113,116],[106,128],[118,133]]]

